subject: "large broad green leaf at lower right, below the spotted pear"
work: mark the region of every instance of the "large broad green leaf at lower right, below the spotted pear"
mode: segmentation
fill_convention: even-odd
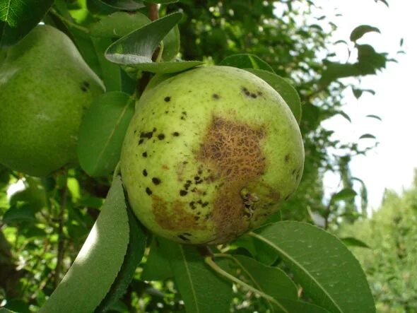
[[[365,273],[334,235],[286,221],[260,228],[253,236],[276,249],[315,304],[329,312],[375,312]]]

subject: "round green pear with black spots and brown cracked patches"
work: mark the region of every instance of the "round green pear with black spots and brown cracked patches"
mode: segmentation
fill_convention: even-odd
[[[242,69],[205,66],[143,94],[120,165],[148,229],[184,244],[222,244],[262,225],[293,194],[304,148],[274,88]]]

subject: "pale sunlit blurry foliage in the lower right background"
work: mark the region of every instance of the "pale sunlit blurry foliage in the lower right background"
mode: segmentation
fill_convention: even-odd
[[[372,218],[340,230],[369,246],[352,250],[368,276],[378,312],[417,312],[417,172],[415,177],[401,196],[386,191]]]

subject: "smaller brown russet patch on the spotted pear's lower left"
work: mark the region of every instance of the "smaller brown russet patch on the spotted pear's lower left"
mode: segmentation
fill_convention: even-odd
[[[156,223],[165,230],[205,230],[203,223],[198,223],[195,215],[187,211],[186,201],[168,203],[159,196],[152,196],[152,212]]]

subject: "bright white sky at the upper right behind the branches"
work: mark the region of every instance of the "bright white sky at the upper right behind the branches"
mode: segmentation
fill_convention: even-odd
[[[349,40],[351,30],[367,24],[380,29],[381,33],[368,33],[358,43],[370,44],[377,52],[389,52],[398,63],[389,62],[376,76],[361,79],[364,89],[375,90],[375,95],[364,93],[358,100],[351,90],[343,94],[346,105],[343,111],[350,115],[352,123],[341,116],[323,123],[327,129],[335,131],[334,138],[342,141],[359,142],[362,146],[372,146],[372,139],[358,138],[362,134],[377,137],[378,146],[365,157],[353,158],[351,172],[363,179],[368,187],[369,210],[380,206],[384,189],[394,189],[401,193],[413,182],[414,168],[417,168],[417,18],[413,1],[390,0],[389,8],[374,0],[320,0],[327,16],[335,12],[343,14],[336,18],[338,30],[334,40]],[[334,8],[338,8],[336,11]],[[404,38],[404,45],[399,42]],[[339,47],[338,47],[339,46]],[[336,45],[340,61],[348,59],[346,47]],[[403,49],[406,54],[396,54]],[[377,119],[366,117],[375,114]],[[327,173],[324,186],[327,194],[340,189],[339,177]]]

